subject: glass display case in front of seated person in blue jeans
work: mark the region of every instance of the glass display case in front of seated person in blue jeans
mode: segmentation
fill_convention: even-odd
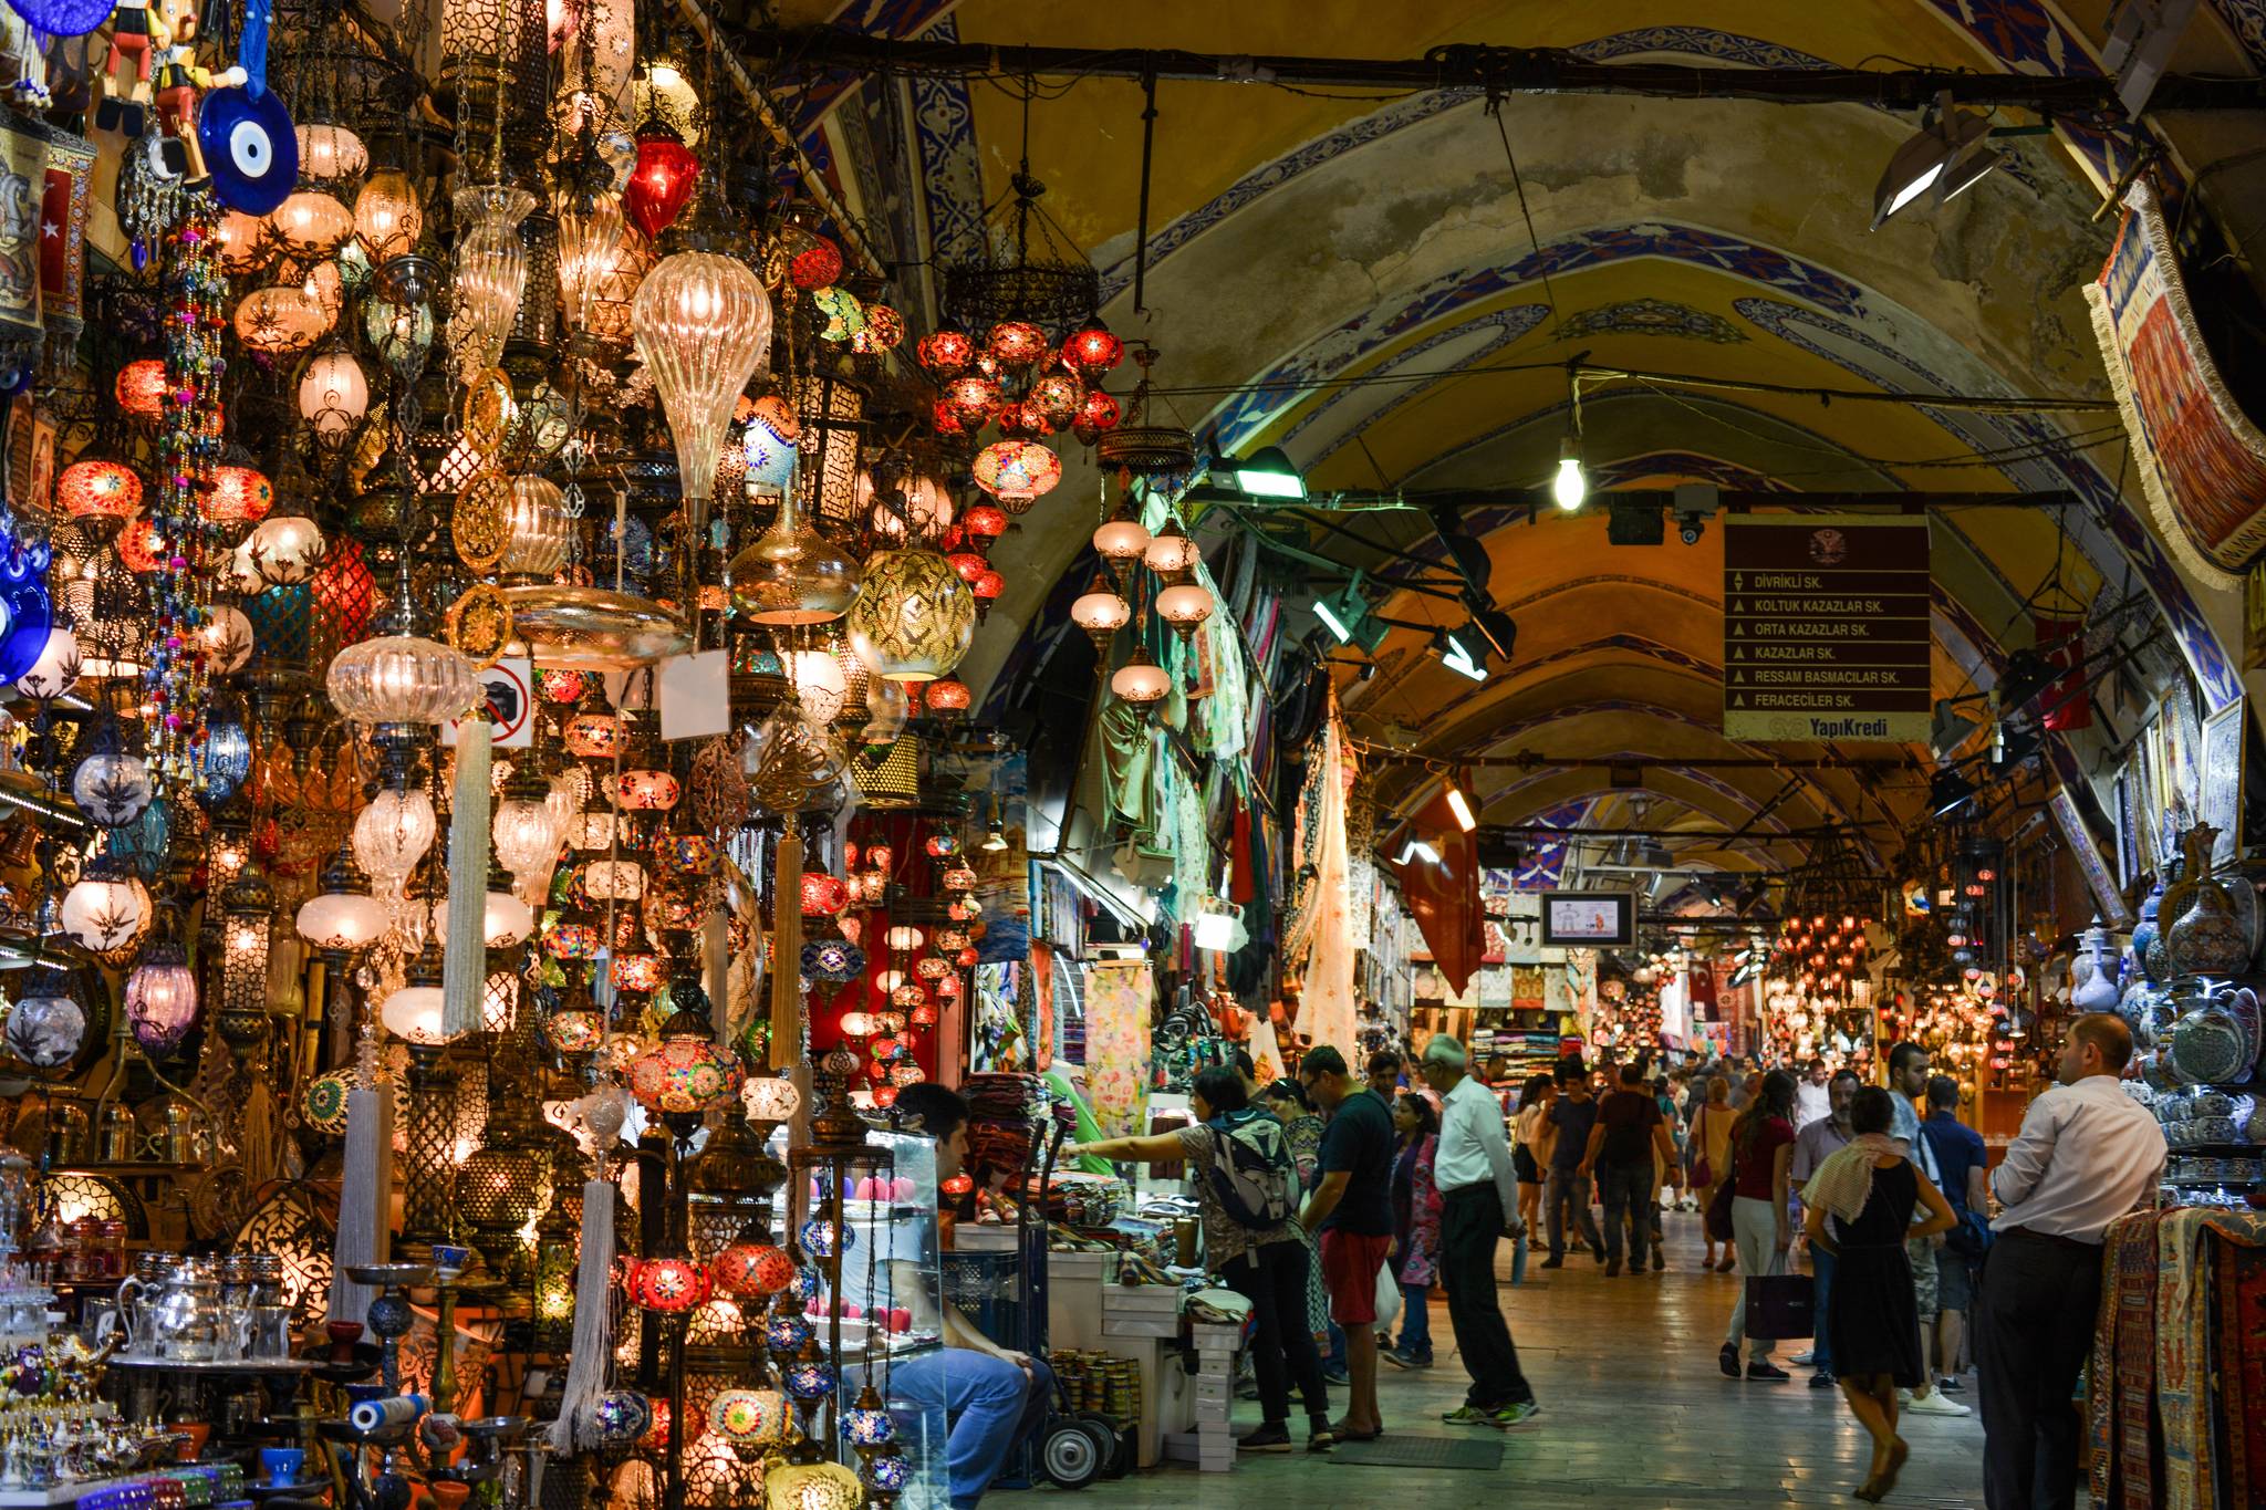
[[[936,1143],[875,1130],[857,1155],[802,1170],[793,1232],[820,1275],[807,1318],[838,1365],[825,1426],[836,1458],[859,1467],[861,1447],[893,1438],[904,1465],[893,1469],[904,1472],[897,1505],[947,1510]]]

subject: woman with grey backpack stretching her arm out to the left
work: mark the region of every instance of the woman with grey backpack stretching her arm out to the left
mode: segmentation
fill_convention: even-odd
[[[1065,1148],[1119,1164],[1181,1164],[1196,1186],[1206,1263],[1228,1288],[1251,1299],[1251,1372],[1260,1381],[1258,1431],[1237,1438],[1242,1451],[1289,1451],[1289,1385],[1307,1417],[1307,1451],[1326,1451],[1330,1397],[1321,1356],[1305,1329],[1307,1247],[1298,1241],[1296,1170],[1283,1123],[1251,1105],[1230,1069],[1196,1073],[1192,1127],[1144,1139],[1101,1139]]]

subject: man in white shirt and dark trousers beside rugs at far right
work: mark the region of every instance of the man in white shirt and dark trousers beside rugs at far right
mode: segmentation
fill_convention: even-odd
[[[1999,1220],[1976,1304],[1990,1510],[2076,1503],[2078,1410],[2069,1397],[2101,1311],[2101,1238],[2150,1200],[2164,1173],[2164,1130],[2119,1084],[2130,1059],[2123,1019],[2073,1019],[2060,1084],[2030,1103],[1990,1177]]]

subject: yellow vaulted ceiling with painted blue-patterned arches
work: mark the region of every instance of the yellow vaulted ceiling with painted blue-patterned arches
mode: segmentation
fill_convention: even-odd
[[[1056,0],[897,0],[782,23],[897,36],[1219,54],[1419,57],[1443,43],[1570,48],[1593,61],[1756,68],[1962,68],[2098,72],[2107,0],[1351,0],[1140,7]],[[2257,72],[2266,5],[2207,0],[2173,68]],[[1264,84],[1158,86],[1149,256],[1133,303],[1142,91],[1128,79],[872,79],[813,91],[811,143],[868,215],[888,215],[918,263],[981,247],[983,208],[1024,152],[1045,208],[1104,274],[1110,326],[1160,351],[1172,407],[1219,455],[1278,444],[1326,489],[1500,489],[1548,478],[1568,430],[1568,362],[1695,383],[1584,380],[1582,453],[1604,487],[1718,482],[1786,491],[2073,489],[2078,507],[1935,514],[1935,693],[1987,688],[2033,641],[2026,602],[2076,614],[2132,593],[2216,706],[2239,693],[2225,645],[2239,604],[2173,568],[2123,471],[2101,407],[2005,412],[1822,401],[1799,389],[2110,398],[2082,285],[2116,215],[2098,215],[2130,163],[2114,136],[2069,127],[2003,143],[2008,165],[1933,213],[1879,231],[1872,188],[1915,120],[1865,104],[1756,104],[1468,91],[1385,95]],[[866,111],[843,111],[861,102]],[[902,156],[875,147],[900,113]],[[2033,125],[2001,111],[1996,125]],[[2257,201],[2259,120],[2157,122],[2175,181],[2205,181],[2207,213]],[[859,158],[863,154],[863,168]],[[1516,168],[1514,168],[1516,158]],[[2223,158],[2232,158],[2225,161]],[[2227,222],[2225,215],[2221,215]],[[2239,220],[2239,217],[2237,217]],[[2227,222],[2239,240],[2243,224]],[[1752,387],[1743,387],[1752,385]],[[1795,392],[1788,392],[1795,389]],[[1002,546],[1008,593],[970,661],[981,686],[1079,555],[1099,478],[1067,448],[1056,494]],[[1446,564],[1428,518],[1339,516],[1369,543],[1314,548],[1375,580]],[[1466,512],[1518,654],[1484,686],[1394,629],[1375,672],[1341,666],[1360,731],[1412,738],[1441,758],[1536,752],[1539,770],[1489,767],[1484,820],[1582,810],[1607,761],[1647,761],[1656,824],[1756,833],[1849,822],[1892,851],[1926,786],[1908,774],[1786,777],[1727,761],[1835,752],[1738,745],[1720,733],[1722,537],[1613,548],[1600,509],[1530,521]],[[1459,623],[1439,598],[1391,591],[1380,611]],[[1679,767],[1677,761],[1690,765]],[[1421,772],[1398,795],[1421,795]],[[1783,860],[1783,851],[1781,851]],[[1679,863],[1770,863],[1747,844],[1693,840]]]

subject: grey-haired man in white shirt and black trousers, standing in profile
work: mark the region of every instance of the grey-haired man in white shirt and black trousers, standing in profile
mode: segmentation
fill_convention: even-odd
[[[1471,1374],[1464,1404],[1441,1419],[1518,1426],[1541,1408],[1518,1370],[1518,1347],[1496,1295],[1496,1243],[1518,1234],[1518,1177],[1502,1136],[1502,1105],[1464,1066],[1464,1046],[1446,1035],[1425,1044],[1419,1062],[1425,1084],[1441,1096],[1432,1155],[1432,1184],[1441,1195],[1439,1281],[1448,1290],[1455,1349]]]

